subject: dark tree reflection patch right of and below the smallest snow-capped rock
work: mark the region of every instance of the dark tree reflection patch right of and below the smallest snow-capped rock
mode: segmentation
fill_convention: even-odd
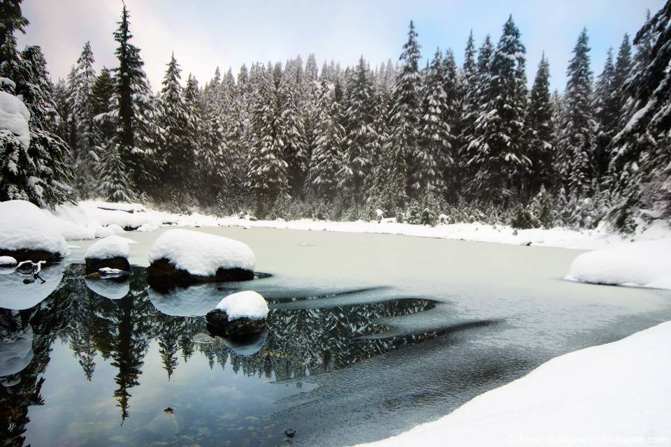
[[[240,356],[221,344],[200,347],[222,367],[227,358],[233,370],[247,376],[273,374],[277,381],[334,371],[406,344],[421,342],[431,334],[366,338],[382,334],[374,318],[402,316],[433,307],[421,299],[391,300],[375,304],[326,309],[271,310],[266,320],[266,344],[252,356]]]

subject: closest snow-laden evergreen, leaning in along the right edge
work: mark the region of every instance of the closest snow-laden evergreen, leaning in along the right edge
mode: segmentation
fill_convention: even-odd
[[[634,67],[626,87],[633,105],[614,138],[612,173],[619,228],[632,228],[637,209],[671,216],[671,1],[649,18],[634,38]],[[647,64],[646,64],[647,61]]]

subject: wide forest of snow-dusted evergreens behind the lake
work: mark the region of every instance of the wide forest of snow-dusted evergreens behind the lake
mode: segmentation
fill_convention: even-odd
[[[124,8],[119,66],[96,74],[87,43],[68,79],[45,88],[81,198],[271,219],[607,219],[629,231],[671,216],[670,19],[671,2],[648,13],[596,82],[584,29],[563,94],[549,91],[545,57],[528,89],[510,17],[498,42],[476,48],[471,34],[461,66],[437,50],[420,67],[410,22],[396,63],[319,70],[310,54],[182,86],[172,57],[154,95]]]

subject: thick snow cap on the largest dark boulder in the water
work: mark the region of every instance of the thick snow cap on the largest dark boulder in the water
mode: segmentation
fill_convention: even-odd
[[[219,268],[254,270],[256,258],[243,242],[193,230],[168,230],[152,245],[149,262],[167,258],[175,268],[214,276]]]

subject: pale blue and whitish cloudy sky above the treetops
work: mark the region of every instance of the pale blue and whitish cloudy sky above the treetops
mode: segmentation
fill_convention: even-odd
[[[608,47],[615,52],[623,34],[632,38],[644,22],[645,9],[656,13],[664,0],[488,0],[488,1],[219,1],[126,0],[133,43],[141,50],[154,90],[160,87],[171,53],[182,66],[182,79],[194,73],[201,84],[217,66],[237,74],[252,61],[284,61],[315,53],[345,67],[363,54],[371,66],[398,60],[414,20],[424,59],[436,47],[452,47],[456,61],[470,29],[476,47],[486,34],[496,43],[512,13],[527,50],[527,76],[533,81],[542,52],[551,68],[551,87],[563,90],[566,66],[579,32],[587,27],[592,70],[603,69]],[[96,69],[116,66],[113,32],[121,0],[24,0],[31,22],[19,45],[41,45],[52,79],[65,78],[82,46],[91,41]]]

